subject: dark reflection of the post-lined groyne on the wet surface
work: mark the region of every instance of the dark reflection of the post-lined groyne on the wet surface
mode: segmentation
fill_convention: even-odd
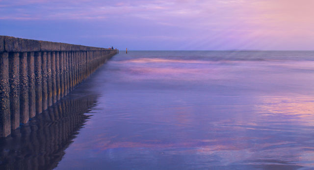
[[[1,170],[49,170],[57,166],[96,103],[96,96],[61,100],[29,124],[0,138]]]

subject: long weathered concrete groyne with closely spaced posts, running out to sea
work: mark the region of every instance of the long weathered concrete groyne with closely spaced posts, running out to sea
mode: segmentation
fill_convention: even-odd
[[[69,94],[117,52],[0,36],[0,137]]]

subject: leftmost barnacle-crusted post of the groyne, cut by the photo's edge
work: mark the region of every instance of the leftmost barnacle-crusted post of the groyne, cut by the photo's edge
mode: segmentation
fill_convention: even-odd
[[[6,137],[11,133],[8,53],[0,53],[0,89],[0,137]]]

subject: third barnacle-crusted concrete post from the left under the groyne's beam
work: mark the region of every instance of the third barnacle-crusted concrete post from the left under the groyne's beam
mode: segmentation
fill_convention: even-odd
[[[24,52],[20,53],[20,123],[22,124],[26,124],[29,120],[28,109],[27,52]]]

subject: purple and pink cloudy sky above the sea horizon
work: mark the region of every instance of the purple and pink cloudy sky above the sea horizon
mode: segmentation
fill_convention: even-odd
[[[314,50],[314,0],[0,0],[0,35],[120,50]]]

